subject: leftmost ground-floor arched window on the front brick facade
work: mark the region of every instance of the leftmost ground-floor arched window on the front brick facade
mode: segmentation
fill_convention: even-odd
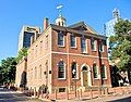
[[[58,78],[60,79],[66,78],[63,61],[60,61],[58,65]]]

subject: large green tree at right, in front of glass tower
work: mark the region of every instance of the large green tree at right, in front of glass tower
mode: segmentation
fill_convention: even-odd
[[[131,71],[131,22],[128,20],[119,20],[115,25],[115,36],[111,36],[110,43],[112,46],[111,60],[117,61],[116,65],[119,71]],[[130,78],[130,76],[129,76]],[[131,81],[131,79],[129,79]]]

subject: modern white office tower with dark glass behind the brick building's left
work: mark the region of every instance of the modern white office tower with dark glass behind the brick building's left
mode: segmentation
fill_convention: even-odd
[[[40,34],[40,28],[37,26],[23,26],[22,30],[20,33],[20,38],[19,38],[19,51],[22,48],[28,48],[31,47],[31,36]]]

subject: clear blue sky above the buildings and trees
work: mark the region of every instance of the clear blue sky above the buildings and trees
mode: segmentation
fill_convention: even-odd
[[[0,0],[0,61],[16,56],[23,25],[43,28],[45,17],[55,23],[58,4],[63,4],[67,25],[84,21],[99,34],[104,24],[112,18],[115,8],[121,17],[131,20],[131,0]]]

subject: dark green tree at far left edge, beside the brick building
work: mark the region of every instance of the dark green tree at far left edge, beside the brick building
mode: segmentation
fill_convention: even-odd
[[[15,79],[15,71],[16,71],[16,59],[15,58],[7,58],[1,61],[0,65],[0,82],[13,82]]]

